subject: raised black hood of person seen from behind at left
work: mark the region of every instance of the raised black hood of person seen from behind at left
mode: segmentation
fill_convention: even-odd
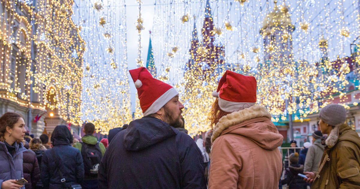
[[[72,135],[65,125],[58,125],[55,127],[53,134],[51,134],[51,141],[53,145],[70,145],[72,143]]]

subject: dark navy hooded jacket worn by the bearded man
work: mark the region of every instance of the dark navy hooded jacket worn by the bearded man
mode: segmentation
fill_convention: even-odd
[[[194,140],[149,116],[130,122],[115,136],[98,179],[99,189],[206,189],[203,159]]]

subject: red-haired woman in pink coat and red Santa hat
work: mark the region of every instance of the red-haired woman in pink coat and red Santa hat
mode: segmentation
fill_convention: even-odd
[[[227,70],[213,96],[209,189],[278,188],[283,136],[255,104],[255,77]]]

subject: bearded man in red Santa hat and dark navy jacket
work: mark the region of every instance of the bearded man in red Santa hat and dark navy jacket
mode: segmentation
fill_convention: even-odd
[[[144,117],[131,121],[109,144],[99,188],[206,188],[202,154],[183,124],[179,94],[144,68],[129,71]]]

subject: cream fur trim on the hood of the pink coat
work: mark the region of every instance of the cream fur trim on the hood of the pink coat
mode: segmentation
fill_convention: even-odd
[[[249,108],[230,113],[220,118],[219,122],[213,128],[211,142],[213,143],[218,138],[222,131],[232,125],[236,125],[246,120],[250,120],[256,117],[271,118],[271,114],[267,109],[261,105],[253,105]]]

